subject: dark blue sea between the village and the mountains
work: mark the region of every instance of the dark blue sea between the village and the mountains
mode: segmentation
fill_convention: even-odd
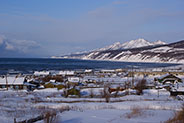
[[[118,68],[155,68],[177,64],[111,62],[79,59],[50,58],[0,58],[0,74],[12,71],[33,73],[40,70],[77,70],[77,69],[118,69]]]

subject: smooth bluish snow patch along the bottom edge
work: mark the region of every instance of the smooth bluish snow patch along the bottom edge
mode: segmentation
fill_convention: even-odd
[[[100,109],[64,112],[58,119],[62,123],[156,123],[171,117],[170,110],[141,110],[140,115],[127,117],[131,110]]]

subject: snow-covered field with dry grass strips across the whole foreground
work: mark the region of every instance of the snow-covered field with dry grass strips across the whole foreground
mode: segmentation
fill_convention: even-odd
[[[99,89],[100,90],[100,89]],[[99,91],[94,90],[95,93]],[[84,89],[83,91],[89,92]],[[144,90],[144,95],[126,95],[111,98],[106,103],[104,98],[64,98],[62,90],[43,89],[34,92],[1,91],[0,120],[13,123],[37,117],[47,111],[57,112],[57,121],[62,123],[134,123],[161,122],[180,110],[183,101],[169,96],[165,89]],[[60,113],[62,109],[69,109]],[[132,113],[134,109],[138,114]],[[43,121],[39,121],[43,122]]]

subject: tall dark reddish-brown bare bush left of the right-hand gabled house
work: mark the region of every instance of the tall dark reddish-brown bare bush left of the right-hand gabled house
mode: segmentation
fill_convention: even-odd
[[[145,88],[146,88],[146,80],[145,79],[139,80],[138,83],[135,86],[135,89],[137,90],[138,95],[142,95],[143,90]]]

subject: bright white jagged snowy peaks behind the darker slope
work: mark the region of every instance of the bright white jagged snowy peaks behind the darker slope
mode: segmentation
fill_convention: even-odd
[[[131,48],[146,47],[146,46],[152,46],[152,45],[163,45],[163,44],[166,44],[166,43],[160,40],[155,42],[149,42],[145,39],[140,38],[136,40],[127,41],[123,44],[121,44],[120,42],[116,42],[113,45],[106,46],[98,50],[103,51],[103,50],[131,49]]]

